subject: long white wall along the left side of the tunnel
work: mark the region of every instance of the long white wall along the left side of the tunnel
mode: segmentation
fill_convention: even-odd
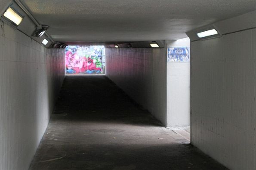
[[[65,76],[64,51],[0,26],[0,170],[27,170]]]

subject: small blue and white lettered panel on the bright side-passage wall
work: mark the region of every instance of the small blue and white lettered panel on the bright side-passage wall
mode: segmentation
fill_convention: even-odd
[[[167,62],[189,62],[189,48],[168,48]]]

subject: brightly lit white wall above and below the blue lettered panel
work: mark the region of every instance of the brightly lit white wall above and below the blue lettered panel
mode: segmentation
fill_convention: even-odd
[[[188,47],[190,39],[167,42],[167,47]],[[189,125],[189,86],[190,63],[167,63],[167,116],[168,126],[184,127]]]

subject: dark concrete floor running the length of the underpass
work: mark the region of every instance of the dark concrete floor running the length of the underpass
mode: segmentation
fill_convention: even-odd
[[[67,76],[30,170],[227,170],[105,76]]]

